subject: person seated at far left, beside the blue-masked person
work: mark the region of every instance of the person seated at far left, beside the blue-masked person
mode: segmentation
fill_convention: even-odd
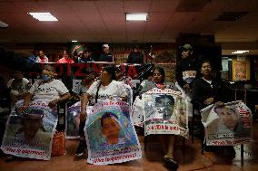
[[[24,76],[24,72],[14,71],[13,79],[7,83],[7,88],[10,89],[11,109],[18,100],[25,99],[27,91],[31,88],[31,83]]]

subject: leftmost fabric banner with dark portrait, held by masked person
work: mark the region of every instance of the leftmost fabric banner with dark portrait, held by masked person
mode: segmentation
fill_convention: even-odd
[[[23,100],[15,104],[7,120],[1,149],[17,157],[49,160],[57,124],[56,110],[44,101],[34,100],[24,113],[16,112],[22,104]]]

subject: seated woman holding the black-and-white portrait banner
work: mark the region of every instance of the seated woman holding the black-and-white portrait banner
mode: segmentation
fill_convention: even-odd
[[[159,88],[159,89],[172,89],[172,90],[178,90],[173,83],[164,81],[165,78],[165,73],[164,69],[161,67],[155,67],[154,68],[154,81],[147,81],[140,91],[140,95],[143,94],[144,92],[147,92],[148,90],[152,90],[154,88]],[[172,100],[165,100],[166,103],[168,101]],[[164,105],[164,99],[161,100],[162,105]],[[174,106],[174,101],[171,102],[171,106]],[[172,112],[173,109],[166,109],[164,108],[164,113],[167,115],[164,116],[167,118],[170,114],[168,112]],[[170,135],[158,135],[160,139],[161,146],[163,147],[163,152],[164,152],[164,162],[166,165],[172,167],[172,168],[177,168],[178,164],[176,161],[174,161],[174,142],[176,136],[173,134]]]

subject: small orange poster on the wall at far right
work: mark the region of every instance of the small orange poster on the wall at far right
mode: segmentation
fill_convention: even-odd
[[[237,61],[233,59],[233,81],[250,80],[250,61]]]

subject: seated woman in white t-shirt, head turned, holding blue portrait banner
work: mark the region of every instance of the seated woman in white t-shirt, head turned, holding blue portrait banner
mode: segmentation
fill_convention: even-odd
[[[115,81],[115,70],[113,65],[107,65],[102,68],[99,81],[94,81],[89,90],[84,93],[81,100],[81,114],[80,119],[86,120],[86,105],[90,102],[92,105],[99,100],[112,99],[120,97],[126,100],[126,92],[123,85],[119,81]],[[89,101],[90,100],[90,101]],[[84,148],[86,147],[85,139],[80,141],[77,147],[76,155],[82,156]]]

